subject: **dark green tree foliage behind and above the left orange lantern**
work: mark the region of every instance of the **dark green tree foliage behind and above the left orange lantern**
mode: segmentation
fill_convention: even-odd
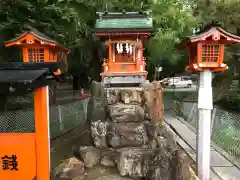
[[[70,48],[72,54],[69,61],[72,67],[85,67],[94,58],[89,46],[93,40],[90,24],[94,21],[95,6],[95,1],[80,0],[1,1],[0,43],[2,45],[3,41],[23,32],[26,25],[31,26]],[[7,52],[11,48],[1,48],[4,52],[1,53],[2,61],[19,59],[19,53],[9,56]]]

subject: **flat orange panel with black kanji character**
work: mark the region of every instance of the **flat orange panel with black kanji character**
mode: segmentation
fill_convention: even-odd
[[[36,177],[35,133],[0,133],[0,179]]]

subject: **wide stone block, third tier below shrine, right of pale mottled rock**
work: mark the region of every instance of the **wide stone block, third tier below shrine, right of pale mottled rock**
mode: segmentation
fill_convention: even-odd
[[[141,146],[148,142],[147,132],[142,123],[112,123],[107,138],[108,144],[114,148]]]

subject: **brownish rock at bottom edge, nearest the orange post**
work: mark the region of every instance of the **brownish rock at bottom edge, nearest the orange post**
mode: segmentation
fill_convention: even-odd
[[[84,164],[77,158],[69,158],[64,160],[57,168],[55,168],[56,180],[83,180]]]

